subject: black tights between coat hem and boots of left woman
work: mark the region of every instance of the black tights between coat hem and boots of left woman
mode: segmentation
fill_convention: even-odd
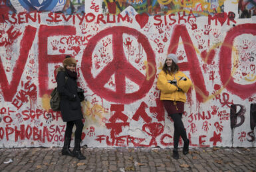
[[[66,122],[65,138],[71,138],[74,124],[76,125],[76,131],[74,132],[74,138],[80,140],[81,136],[82,136],[82,128],[84,127],[82,120],[72,120],[72,121]]]

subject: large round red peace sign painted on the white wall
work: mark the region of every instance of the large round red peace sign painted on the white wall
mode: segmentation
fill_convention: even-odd
[[[138,43],[142,44],[146,52],[148,64],[150,64],[148,65],[146,76],[140,73],[140,71],[132,66],[126,59],[123,49],[124,33],[134,36],[138,40]],[[92,52],[97,42],[110,34],[112,34],[113,60],[94,78],[91,73]],[[81,71],[84,75],[84,79],[88,83],[88,87],[97,95],[116,103],[132,103],[144,97],[154,83],[154,75],[156,75],[155,54],[148,42],[148,38],[146,38],[144,34],[126,26],[113,26],[98,32],[98,34],[90,38],[88,46],[85,48],[84,54],[82,55]],[[150,73],[149,75],[152,77],[148,77],[148,73]],[[116,91],[104,88],[104,85],[113,74],[115,76]],[[139,85],[140,89],[134,93],[125,93],[126,77]]]

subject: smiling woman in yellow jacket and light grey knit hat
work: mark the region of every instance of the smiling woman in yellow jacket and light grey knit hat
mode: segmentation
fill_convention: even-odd
[[[168,54],[164,67],[158,75],[157,87],[160,90],[160,99],[174,120],[174,159],[179,159],[178,144],[180,136],[184,141],[183,153],[188,154],[190,140],[187,138],[186,130],[182,122],[186,93],[192,85],[192,81],[179,70],[176,54]]]

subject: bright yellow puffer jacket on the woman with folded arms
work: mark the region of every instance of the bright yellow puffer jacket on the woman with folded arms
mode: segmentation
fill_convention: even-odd
[[[179,80],[182,77],[186,77],[186,81]],[[168,80],[177,80],[177,86],[182,89],[178,91],[178,87],[168,83]],[[177,71],[174,75],[166,74],[163,70],[160,71],[158,75],[158,82],[156,87],[161,91],[161,100],[170,100],[170,101],[182,101],[186,102],[186,94],[192,85],[192,81],[182,72]]]

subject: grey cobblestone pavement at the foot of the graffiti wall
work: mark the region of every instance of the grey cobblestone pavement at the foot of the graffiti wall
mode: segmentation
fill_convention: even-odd
[[[61,148],[0,149],[0,171],[256,171],[256,148],[191,148],[188,155],[180,149],[178,160],[169,148],[84,147],[82,152],[86,159],[79,161],[61,155]]]

